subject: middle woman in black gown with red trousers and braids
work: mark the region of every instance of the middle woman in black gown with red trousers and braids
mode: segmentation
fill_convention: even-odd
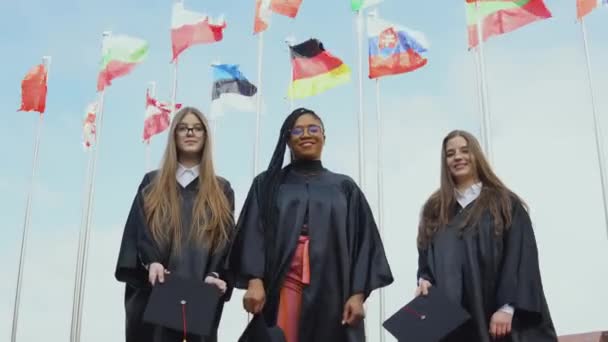
[[[279,134],[231,248],[245,310],[278,325],[287,342],[365,341],[363,303],[393,282],[370,207],[350,177],[323,167],[325,129],[312,110],[295,110]]]

